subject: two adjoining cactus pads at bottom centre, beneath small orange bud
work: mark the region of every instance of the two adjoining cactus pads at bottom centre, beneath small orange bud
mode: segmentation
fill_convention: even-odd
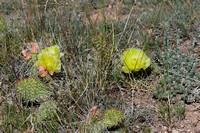
[[[83,132],[101,133],[106,129],[118,127],[122,124],[124,115],[120,110],[107,110],[103,116],[93,116],[87,119],[82,125]]]

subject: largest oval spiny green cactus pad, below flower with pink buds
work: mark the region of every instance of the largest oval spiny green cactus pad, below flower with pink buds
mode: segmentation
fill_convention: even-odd
[[[41,102],[47,99],[51,95],[47,89],[47,85],[35,78],[23,79],[17,83],[17,93],[25,101]]]

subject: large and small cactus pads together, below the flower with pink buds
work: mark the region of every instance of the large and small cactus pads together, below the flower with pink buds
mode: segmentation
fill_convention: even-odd
[[[31,117],[31,121],[39,123],[42,120],[55,118],[57,104],[49,99],[49,87],[37,78],[26,78],[17,83],[17,93],[23,101],[40,102],[39,109]]]

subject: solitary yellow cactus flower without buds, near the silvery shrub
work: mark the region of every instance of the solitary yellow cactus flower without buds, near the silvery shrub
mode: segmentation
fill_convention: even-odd
[[[151,60],[145,55],[145,53],[141,49],[128,49],[123,53],[122,61],[124,66],[122,70],[125,73],[129,73],[131,71],[137,72],[140,69],[147,69]]]

